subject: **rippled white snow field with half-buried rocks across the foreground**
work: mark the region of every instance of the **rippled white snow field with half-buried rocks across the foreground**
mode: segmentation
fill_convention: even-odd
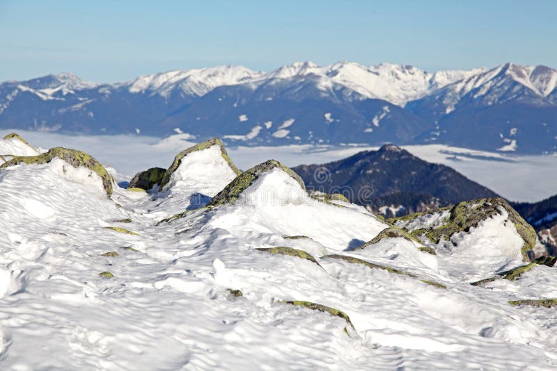
[[[434,244],[280,163],[236,177],[218,142],[111,197],[90,167],[22,161],[0,168],[2,369],[557,367],[557,307],[509,303],[557,297],[556,268],[503,277],[528,263],[505,208]]]

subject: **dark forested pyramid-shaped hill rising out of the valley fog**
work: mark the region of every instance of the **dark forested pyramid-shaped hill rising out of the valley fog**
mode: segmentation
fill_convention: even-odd
[[[497,196],[451,167],[428,163],[395,145],[361,151],[322,165],[299,165],[292,170],[304,179],[308,189],[326,193],[350,189],[350,201],[369,206],[386,217]],[[369,197],[366,190],[372,190]],[[387,207],[390,205],[394,212]]]

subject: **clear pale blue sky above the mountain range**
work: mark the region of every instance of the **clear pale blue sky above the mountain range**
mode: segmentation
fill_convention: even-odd
[[[0,0],[0,81],[73,72],[97,82],[214,65],[269,70],[512,61],[557,67],[557,1]]]

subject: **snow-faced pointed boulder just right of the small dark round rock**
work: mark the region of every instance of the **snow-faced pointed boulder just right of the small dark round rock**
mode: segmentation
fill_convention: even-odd
[[[223,142],[212,138],[176,155],[162,176],[159,190],[185,190],[212,197],[241,173],[226,154]]]

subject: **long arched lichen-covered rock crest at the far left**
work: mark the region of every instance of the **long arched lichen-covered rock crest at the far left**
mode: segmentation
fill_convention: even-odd
[[[47,153],[38,156],[15,156],[7,163],[0,165],[0,169],[21,163],[28,165],[49,163],[54,158],[60,158],[73,167],[84,166],[92,172],[95,172],[102,179],[102,186],[107,192],[107,195],[109,197],[112,195],[112,183],[114,182],[112,176],[97,160],[95,160],[95,158],[77,149],[55,147],[49,149]]]

